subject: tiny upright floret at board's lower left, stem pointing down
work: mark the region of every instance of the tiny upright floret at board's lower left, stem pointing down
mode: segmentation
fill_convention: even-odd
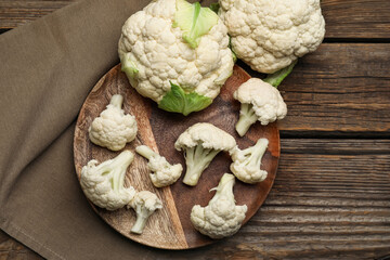
[[[133,208],[136,213],[136,221],[131,227],[131,232],[142,234],[148,217],[153,214],[156,209],[162,208],[162,203],[156,194],[142,191],[135,194],[134,198],[128,205],[128,208],[129,207]]]

